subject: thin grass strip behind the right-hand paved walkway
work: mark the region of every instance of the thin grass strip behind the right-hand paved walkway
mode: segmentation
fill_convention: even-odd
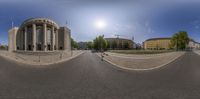
[[[108,52],[120,54],[160,54],[173,52],[173,50],[109,50]]]

